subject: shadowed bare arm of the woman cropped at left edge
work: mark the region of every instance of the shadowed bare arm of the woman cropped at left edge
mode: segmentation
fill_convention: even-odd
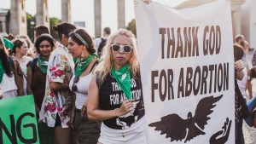
[[[23,86],[23,75],[20,69],[20,63],[17,60],[14,60],[14,65],[15,65],[15,83],[17,85],[17,93],[18,95],[24,95],[24,86]]]

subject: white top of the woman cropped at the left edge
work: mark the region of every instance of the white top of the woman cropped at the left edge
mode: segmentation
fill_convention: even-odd
[[[4,92],[10,90],[17,90],[17,85],[15,83],[15,74],[13,74],[12,78],[9,78],[6,73],[3,73],[3,80],[0,83],[0,89]]]

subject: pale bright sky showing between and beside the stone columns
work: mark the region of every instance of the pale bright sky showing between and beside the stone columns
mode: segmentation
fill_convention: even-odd
[[[0,0],[0,9],[9,9],[11,0]],[[186,0],[153,0],[170,7]],[[37,0],[25,0],[26,12],[36,14]],[[61,19],[61,0],[48,0],[49,17]],[[85,21],[85,27],[94,36],[94,0],[71,0],[72,23]],[[135,19],[133,0],[125,0],[125,25]],[[109,26],[114,32],[117,30],[117,0],[102,0],[102,29]]]

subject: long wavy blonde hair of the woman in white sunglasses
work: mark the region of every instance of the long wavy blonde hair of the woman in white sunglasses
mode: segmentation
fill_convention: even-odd
[[[131,75],[133,77],[136,77],[137,72],[139,72],[136,37],[128,30],[119,29],[118,32],[115,32],[108,37],[107,44],[102,49],[102,62],[96,67],[96,71],[99,72],[99,76],[102,81],[104,81],[104,79],[106,78],[108,73],[111,72],[111,69],[113,67],[113,55],[111,50],[111,44],[113,44],[114,38],[118,36],[125,36],[130,38],[131,46],[133,48],[131,50],[131,58],[130,60],[128,60],[128,63],[130,63],[131,68]]]

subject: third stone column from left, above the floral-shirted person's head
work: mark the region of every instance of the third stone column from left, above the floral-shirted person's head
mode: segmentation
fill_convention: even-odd
[[[61,0],[61,22],[71,22],[70,0]]]

